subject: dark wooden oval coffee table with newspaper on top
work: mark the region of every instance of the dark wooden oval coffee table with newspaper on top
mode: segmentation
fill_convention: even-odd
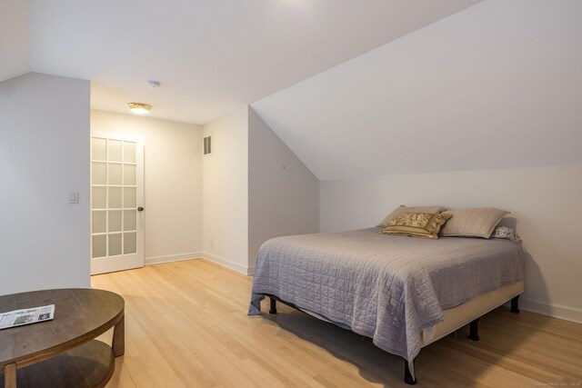
[[[124,299],[85,288],[15,293],[0,296],[0,313],[47,304],[54,320],[0,330],[0,387],[105,386],[125,352]],[[112,347],[95,340],[114,326]]]

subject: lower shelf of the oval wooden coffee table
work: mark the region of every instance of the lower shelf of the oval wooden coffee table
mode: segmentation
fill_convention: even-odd
[[[93,340],[16,371],[18,388],[104,387],[115,370],[111,346]],[[0,373],[0,388],[5,376]]]

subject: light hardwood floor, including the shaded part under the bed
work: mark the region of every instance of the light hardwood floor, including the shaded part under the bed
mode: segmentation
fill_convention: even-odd
[[[252,277],[205,260],[92,277],[125,298],[125,355],[107,387],[407,387],[403,362],[278,303],[247,316]],[[499,308],[424,348],[416,386],[582,387],[582,324]],[[104,337],[106,339],[106,336]]]

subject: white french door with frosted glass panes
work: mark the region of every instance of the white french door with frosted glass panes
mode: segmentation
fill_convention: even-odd
[[[144,266],[144,142],[91,134],[91,274]]]

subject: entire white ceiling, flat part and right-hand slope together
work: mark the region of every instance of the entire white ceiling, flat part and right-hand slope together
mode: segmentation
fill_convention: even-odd
[[[577,164],[580,19],[579,0],[4,0],[0,81],[88,79],[95,109],[192,124],[251,104],[322,180]]]

